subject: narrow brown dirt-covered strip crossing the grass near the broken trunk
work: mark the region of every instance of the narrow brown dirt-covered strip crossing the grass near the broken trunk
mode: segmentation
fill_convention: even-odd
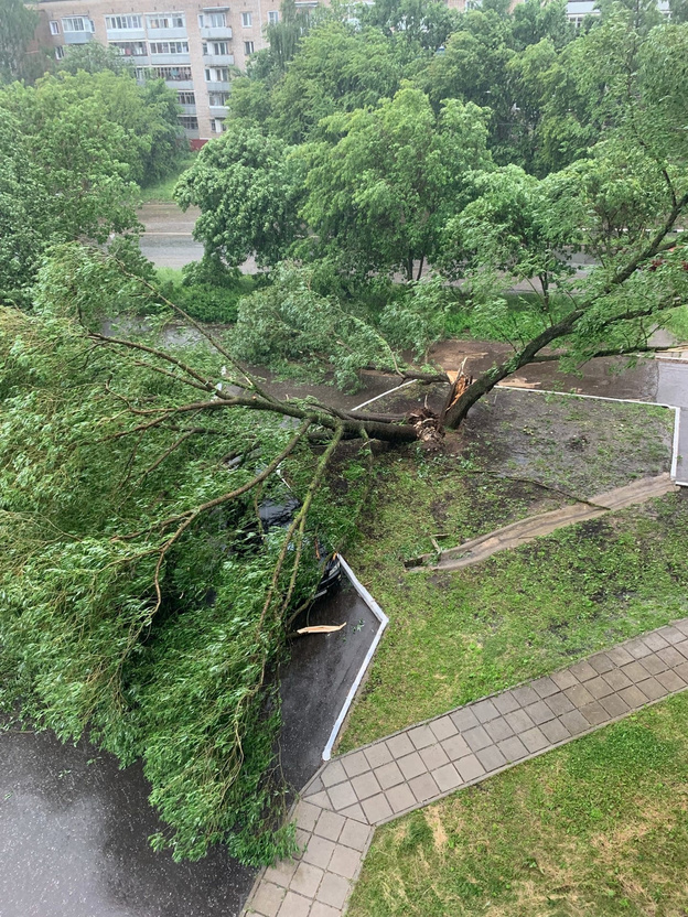
[[[660,497],[673,490],[675,486],[668,474],[643,477],[624,487],[615,487],[613,490],[591,497],[585,503],[574,503],[549,513],[528,516],[502,529],[464,541],[456,548],[447,548],[439,554],[421,554],[411,562],[409,570],[419,570],[423,567],[429,567],[431,570],[460,570],[463,567],[479,563],[497,551],[518,548],[520,544],[526,544],[544,535],[550,535],[565,526],[595,519],[611,510],[623,509],[645,503],[653,497]]]

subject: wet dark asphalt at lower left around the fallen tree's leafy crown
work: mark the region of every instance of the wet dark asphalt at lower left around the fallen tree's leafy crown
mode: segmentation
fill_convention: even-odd
[[[297,638],[282,680],[284,775],[303,786],[378,627],[346,584],[309,624],[340,634]],[[215,849],[174,863],[148,838],[162,826],[140,765],[52,733],[0,734],[0,917],[235,917],[255,871]]]

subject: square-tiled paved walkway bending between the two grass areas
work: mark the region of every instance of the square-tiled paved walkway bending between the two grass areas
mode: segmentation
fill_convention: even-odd
[[[294,811],[303,854],[264,872],[246,914],[340,917],[375,826],[686,688],[688,618],[327,762]]]

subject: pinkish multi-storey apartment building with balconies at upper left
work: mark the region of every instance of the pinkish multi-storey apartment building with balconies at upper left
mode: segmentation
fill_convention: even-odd
[[[159,77],[175,90],[192,145],[222,133],[232,77],[267,46],[265,28],[279,22],[280,0],[39,0],[36,40],[60,60],[69,45],[118,47],[137,78]],[[315,7],[318,0],[298,6]]]

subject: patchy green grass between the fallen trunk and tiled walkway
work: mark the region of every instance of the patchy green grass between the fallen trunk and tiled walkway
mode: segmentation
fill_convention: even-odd
[[[561,400],[571,413],[572,399]],[[562,414],[557,435],[573,435],[563,423]],[[565,501],[480,473],[490,471],[490,452],[466,460],[471,445],[380,460],[367,526],[347,557],[390,626],[342,751],[688,614],[688,493],[561,529],[472,568],[407,573],[404,559],[432,550],[431,535],[448,533],[449,547]],[[578,462],[579,452],[572,455]],[[527,463],[520,474],[529,476]]]

